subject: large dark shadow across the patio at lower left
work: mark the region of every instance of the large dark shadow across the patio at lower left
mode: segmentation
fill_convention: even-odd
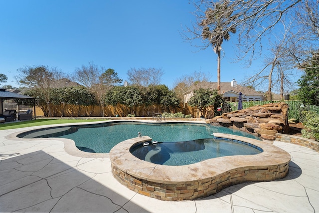
[[[0,157],[10,155],[18,153]],[[57,158],[36,151],[0,161],[0,212],[147,212],[130,202],[133,191],[127,198],[115,192],[123,187],[115,179],[102,184],[112,176],[93,172],[95,161],[103,159]],[[106,159],[102,163],[110,166]]]

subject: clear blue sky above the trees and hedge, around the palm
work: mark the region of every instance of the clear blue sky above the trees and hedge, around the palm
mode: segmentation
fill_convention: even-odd
[[[212,48],[199,51],[180,35],[195,21],[192,11],[188,0],[0,0],[0,73],[8,77],[4,84],[18,86],[20,67],[71,74],[93,62],[123,80],[133,67],[161,68],[160,83],[170,89],[194,71],[210,72],[210,81],[217,81]],[[223,44],[221,81],[243,81],[262,65],[233,63],[235,42]]]

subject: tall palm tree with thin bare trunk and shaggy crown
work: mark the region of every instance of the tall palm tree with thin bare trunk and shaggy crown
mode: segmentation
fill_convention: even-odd
[[[235,33],[236,28],[231,25],[236,19],[236,15],[232,15],[232,7],[228,2],[215,3],[214,9],[208,8],[205,11],[205,17],[200,25],[202,29],[202,38],[208,39],[213,46],[214,52],[217,54],[217,91],[220,94],[220,51],[224,40],[230,39],[230,32]],[[212,30],[211,30],[212,29]]]

